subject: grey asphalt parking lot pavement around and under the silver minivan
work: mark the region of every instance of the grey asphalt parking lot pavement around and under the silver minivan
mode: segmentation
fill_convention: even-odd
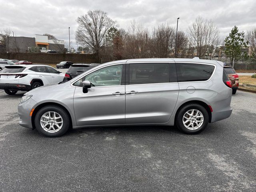
[[[198,135],[175,127],[71,130],[46,138],[19,126],[22,92],[0,91],[0,191],[256,191],[256,94]]]

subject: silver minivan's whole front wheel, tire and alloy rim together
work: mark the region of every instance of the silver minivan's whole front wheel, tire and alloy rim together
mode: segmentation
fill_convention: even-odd
[[[45,106],[37,112],[35,126],[38,132],[47,137],[58,137],[68,131],[70,118],[59,106]]]

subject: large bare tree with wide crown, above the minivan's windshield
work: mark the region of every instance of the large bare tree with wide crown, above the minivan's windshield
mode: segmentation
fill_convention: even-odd
[[[92,48],[99,62],[104,36],[115,22],[108,17],[106,12],[101,10],[89,10],[87,14],[78,17],[76,21],[78,23],[76,42]]]

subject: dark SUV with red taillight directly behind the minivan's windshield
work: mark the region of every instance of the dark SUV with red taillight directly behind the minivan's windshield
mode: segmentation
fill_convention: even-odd
[[[98,63],[92,63],[92,64],[84,64],[84,63],[74,63],[70,66],[70,68],[68,68],[65,77],[64,77],[64,81],[66,80],[70,80],[72,78],[75,78],[76,76],[98,66],[100,64]]]

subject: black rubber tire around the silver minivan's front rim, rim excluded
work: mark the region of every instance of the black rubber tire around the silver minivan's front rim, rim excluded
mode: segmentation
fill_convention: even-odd
[[[40,120],[42,115],[44,115],[46,112],[56,112],[58,114],[60,114],[60,116],[62,117],[62,127],[60,128],[60,130],[58,130],[57,132],[47,132],[46,130],[44,130],[41,126]],[[52,124],[54,126],[54,124]],[[60,124],[59,124],[60,125]],[[43,108],[41,108],[35,116],[35,126],[36,126],[36,130],[38,130],[38,132],[40,132],[41,134],[44,134],[47,137],[59,137],[62,136],[63,134],[65,134],[68,129],[70,128],[70,118],[67,114],[67,112],[59,107],[59,106],[45,106]],[[50,124],[49,126],[50,127]],[[46,128],[48,128],[46,127]],[[56,126],[54,127],[56,128]],[[51,129],[53,131],[53,129]]]

